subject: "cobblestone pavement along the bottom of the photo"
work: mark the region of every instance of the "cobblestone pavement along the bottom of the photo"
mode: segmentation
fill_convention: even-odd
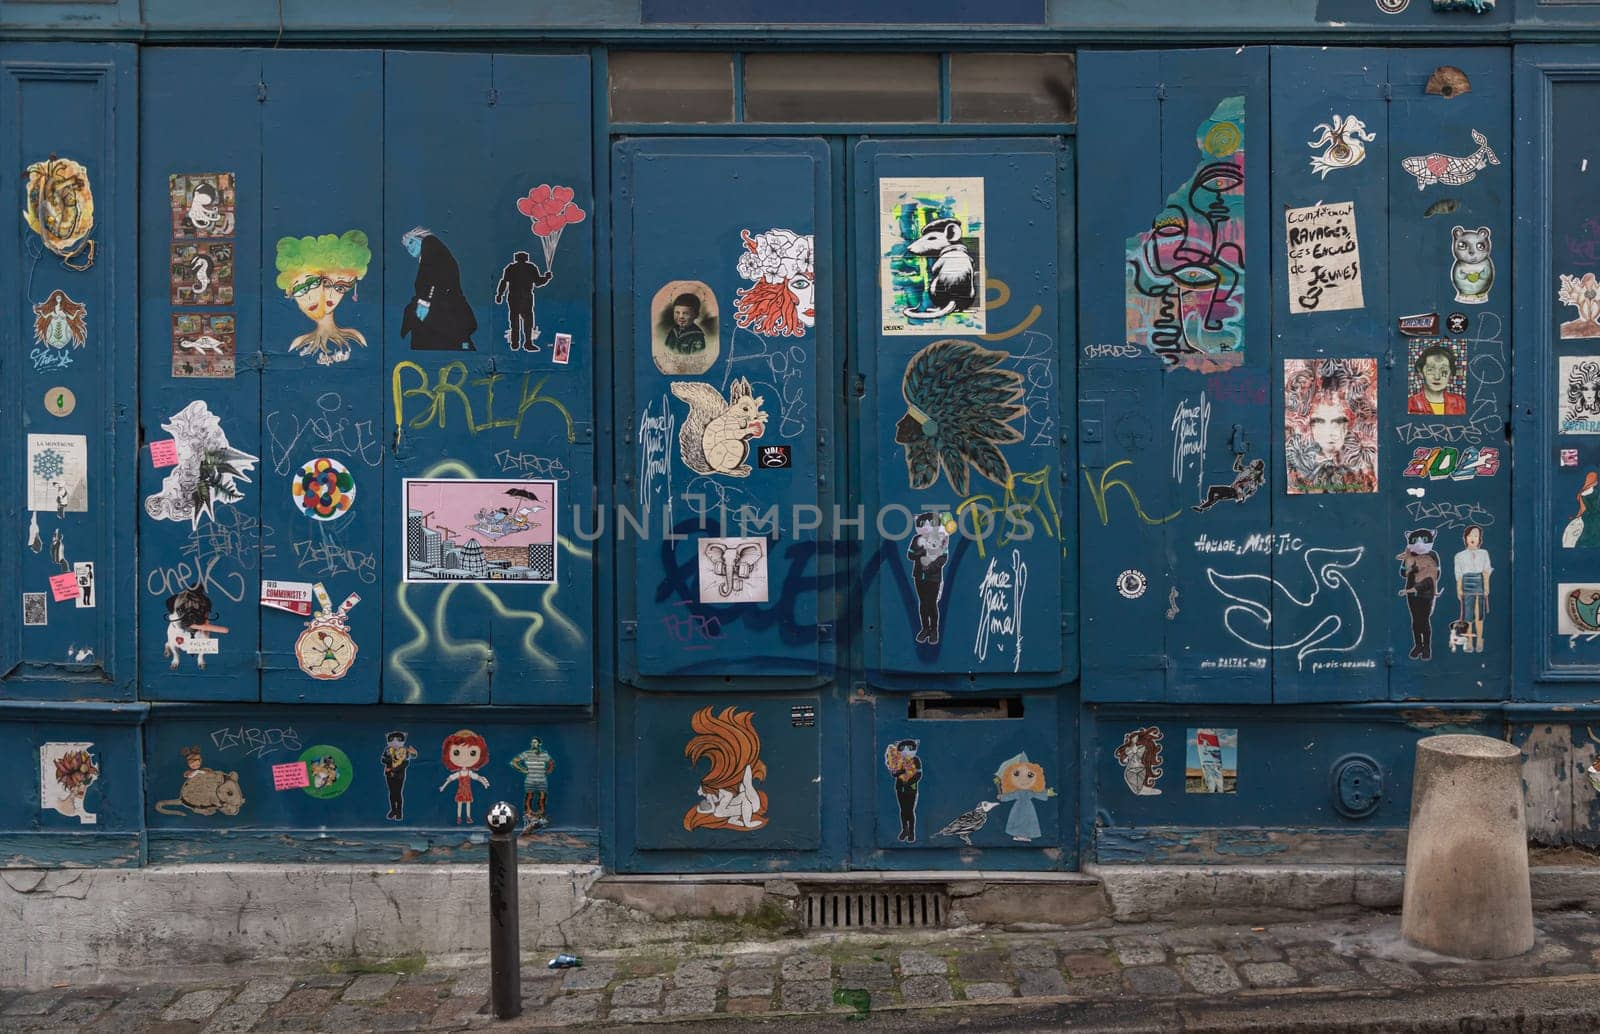
[[[1398,917],[1264,927],[883,935],[651,948],[552,972],[528,957],[525,1013],[488,1015],[488,972],[240,973],[205,984],[0,992],[0,1031],[525,1031],[691,1021],[786,1034],[963,1031],[1595,1031],[1600,924],[1547,912],[1534,949],[1467,964],[1405,946]],[[355,967],[363,968],[363,967]],[[174,981],[181,975],[174,973]],[[742,1021],[742,1023],[741,1023]]]

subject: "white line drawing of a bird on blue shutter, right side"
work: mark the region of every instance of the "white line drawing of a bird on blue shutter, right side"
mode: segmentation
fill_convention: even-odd
[[[1293,650],[1296,664],[1304,667],[1306,658],[1317,653],[1349,653],[1362,645],[1362,639],[1366,635],[1366,613],[1362,610],[1362,599],[1347,573],[1360,563],[1365,554],[1365,546],[1307,549],[1302,559],[1306,571],[1310,575],[1310,594],[1304,599],[1267,575],[1221,575],[1216,568],[1208,567],[1205,576],[1213,589],[1232,600],[1222,608],[1222,627],[1227,629],[1229,635],[1256,650]],[[1328,592],[1325,594],[1323,589]],[[1269,599],[1250,599],[1246,594],[1251,591],[1266,594]],[[1347,626],[1344,615],[1339,613],[1339,602],[1346,597],[1355,607],[1354,627]],[[1317,608],[1310,616],[1322,613],[1322,618],[1299,639],[1274,642],[1274,613],[1291,613],[1283,610],[1290,603],[1307,611]],[[1347,642],[1333,645],[1341,640]]]

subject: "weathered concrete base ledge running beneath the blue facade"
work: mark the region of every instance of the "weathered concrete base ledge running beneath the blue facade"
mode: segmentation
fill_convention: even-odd
[[[1395,911],[1405,884],[1400,866],[1088,866],[1082,874],[858,872],[848,880],[907,876],[947,884],[954,922],[1013,930]],[[200,975],[246,960],[304,965],[483,952],[486,879],[482,866],[6,869],[0,986],[112,983],[174,968]],[[792,935],[789,909],[797,887],[811,879],[602,877],[598,866],[522,866],[523,948]],[[1534,868],[1531,879],[1536,909],[1600,911],[1600,868]]]

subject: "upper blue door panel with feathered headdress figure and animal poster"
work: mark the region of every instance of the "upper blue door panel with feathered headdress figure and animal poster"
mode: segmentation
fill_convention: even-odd
[[[869,679],[1067,682],[1070,154],[866,141],[853,160]]]

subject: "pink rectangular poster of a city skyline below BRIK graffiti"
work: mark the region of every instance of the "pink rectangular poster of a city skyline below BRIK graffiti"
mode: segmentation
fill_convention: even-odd
[[[406,581],[555,583],[554,480],[405,480]]]

